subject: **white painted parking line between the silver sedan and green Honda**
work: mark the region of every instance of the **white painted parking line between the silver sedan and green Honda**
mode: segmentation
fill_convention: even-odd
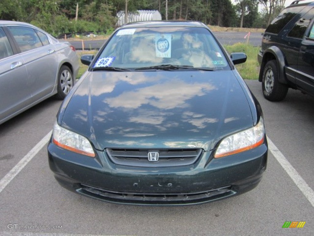
[[[33,157],[46,145],[51,137],[52,130],[41,139],[0,181],[0,193],[14,179],[14,177],[33,159]]]

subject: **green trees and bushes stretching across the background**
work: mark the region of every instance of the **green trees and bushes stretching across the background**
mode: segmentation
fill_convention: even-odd
[[[256,15],[257,1],[260,0],[247,1],[251,3],[243,26],[263,24],[263,16]],[[0,0],[0,19],[30,22],[55,36],[77,31],[106,32],[116,27],[116,14],[125,10],[125,3],[126,0]],[[165,19],[164,0],[127,0],[127,6],[128,12],[160,10]],[[224,27],[236,27],[240,22],[231,0],[168,0],[168,19],[198,20]]]

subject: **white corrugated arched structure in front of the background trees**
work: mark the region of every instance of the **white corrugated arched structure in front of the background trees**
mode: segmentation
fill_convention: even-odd
[[[123,25],[125,23],[124,11],[119,11],[117,18],[117,25]],[[157,10],[138,10],[136,13],[128,12],[127,19],[127,22],[161,20],[161,14]]]

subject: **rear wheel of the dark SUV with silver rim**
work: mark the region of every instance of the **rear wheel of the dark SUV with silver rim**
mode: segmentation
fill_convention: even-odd
[[[263,70],[263,95],[269,101],[281,101],[288,92],[288,86],[278,81],[278,65],[276,60],[268,61]]]

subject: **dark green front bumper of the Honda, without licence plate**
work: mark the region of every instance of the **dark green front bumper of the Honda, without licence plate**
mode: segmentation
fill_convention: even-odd
[[[255,188],[267,166],[267,143],[219,159],[203,152],[196,163],[177,167],[116,165],[106,152],[96,153],[90,158],[48,145],[50,168],[63,187],[123,204],[187,205],[223,199]]]

